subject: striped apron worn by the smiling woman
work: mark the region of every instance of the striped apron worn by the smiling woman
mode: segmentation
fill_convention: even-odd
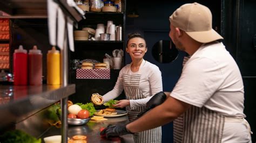
[[[140,74],[127,75],[123,74],[123,84],[126,99],[142,99],[145,98],[139,89]],[[134,107],[126,106],[129,120],[137,118],[139,112],[142,112],[145,106]],[[161,127],[153,128],[143,132],[135,133],[134,142],[161,142]]]

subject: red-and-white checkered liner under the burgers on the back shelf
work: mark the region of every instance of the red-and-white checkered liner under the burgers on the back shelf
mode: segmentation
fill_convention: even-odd
[[[110,69],[77,69],[77,79],[110,79]]]

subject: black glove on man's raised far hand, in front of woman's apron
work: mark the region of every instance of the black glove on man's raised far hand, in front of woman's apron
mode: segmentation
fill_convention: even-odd
[[[163,91],[158,92],[155,94],[147,103],[146,109],[138,114],[138,117],[142,116],[145,112],[149,111],[150,109],[162,104],[166,99],[166,95]]]

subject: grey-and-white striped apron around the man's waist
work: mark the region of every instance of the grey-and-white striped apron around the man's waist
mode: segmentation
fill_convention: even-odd
[[[191,106],[173,121],[174,142],[221,142],[225,116],[205,107]]]

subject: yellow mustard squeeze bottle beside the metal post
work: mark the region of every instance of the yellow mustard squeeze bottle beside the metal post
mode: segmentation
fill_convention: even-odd
[[[60,53],[54,46],[47,53],[47,84],[60,84]]]

